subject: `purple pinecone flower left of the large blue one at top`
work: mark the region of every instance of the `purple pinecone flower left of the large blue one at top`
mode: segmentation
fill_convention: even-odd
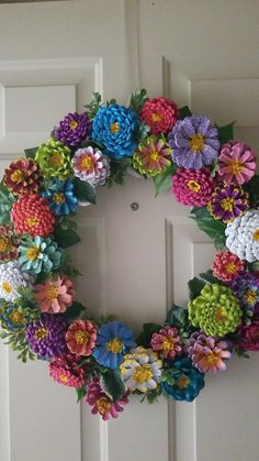
[[[91,121],[87,112],[68,113],[55,130],[55,138],[65,145],[75,147],[89,136],[90,130]]]

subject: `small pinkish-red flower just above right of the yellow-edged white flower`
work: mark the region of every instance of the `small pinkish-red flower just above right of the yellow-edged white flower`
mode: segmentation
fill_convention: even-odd
[[[161,328],[157,333],[153,333],[150,347],[162,359],[174,359],[182,350],[178,329],[167,326]]]

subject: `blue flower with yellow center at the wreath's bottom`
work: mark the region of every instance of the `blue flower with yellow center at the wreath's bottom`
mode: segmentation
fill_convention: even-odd
[[[101,365],[115,370],[126,350],[135,345],[132,330],[120,321],[111,321],[100,328],[92,355]]]

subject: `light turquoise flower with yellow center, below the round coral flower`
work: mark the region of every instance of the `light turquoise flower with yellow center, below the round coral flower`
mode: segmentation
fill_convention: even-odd
[[[63,254],[53,238],[43,239],[38,235],[35,239],[26,239],[19,246],[19,263],[33,274],[57,270]]]

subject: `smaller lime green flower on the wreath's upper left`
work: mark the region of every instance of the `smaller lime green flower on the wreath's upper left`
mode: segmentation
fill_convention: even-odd
[[[38,164],[45,178],[57,177],[60,180],[67,179],[71,174],[71,151],[60,141],[54,138],[40,145],[35,161]]]

